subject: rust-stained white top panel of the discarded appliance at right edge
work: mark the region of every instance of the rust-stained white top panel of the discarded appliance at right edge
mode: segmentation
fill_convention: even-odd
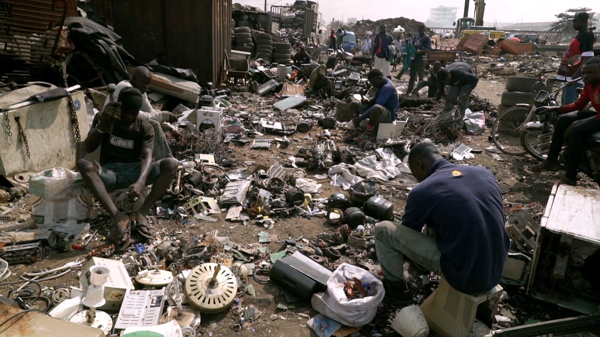
[[[600,244],[600,191],[560,185],[549,208],[548,230]]]

